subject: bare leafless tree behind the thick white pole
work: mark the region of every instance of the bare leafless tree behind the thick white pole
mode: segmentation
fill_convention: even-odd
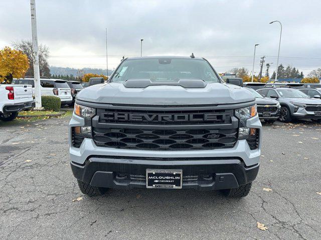
[[[14,48],[17,50],[21,50],[24,52],[29,59],[30,62],[30,67],[26,73],[28,76],[33,76],[34,75],[34,59],[33,59],[33,54],[32,54],[32,41],[31,40],[20,40],[20,41],[15,41],[12,43]],[[39,70],[40,70],[40,75],[41,76],[48,76],[50,77],[50,69],[49,69],[49,63],[48,63],[48,57],[49,57],[49,48],[46,45],[39,44],[38,46],[38,53],[39,53]]]

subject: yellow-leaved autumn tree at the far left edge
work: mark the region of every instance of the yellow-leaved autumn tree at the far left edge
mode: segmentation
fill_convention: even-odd
[[[6,46],[0,50],[0,82],[11,83],[12,79],[24,77],[29,68],[28,56],[22,51]]]

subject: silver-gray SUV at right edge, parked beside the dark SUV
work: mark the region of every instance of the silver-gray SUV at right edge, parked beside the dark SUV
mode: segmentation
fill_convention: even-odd
[[[265,87],[257,91],[263,96],[279,101],[281,104],[280,120],[283,122],[290,122],[292,118],[321,122],[320,99],[310,98],[298,89],[287,87]]]

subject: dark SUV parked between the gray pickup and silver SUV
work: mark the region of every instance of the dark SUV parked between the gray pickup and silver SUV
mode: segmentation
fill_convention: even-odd
[[[256,90],[244,87],[249,90],[255,97],[257,113],[259,114],[260,120],[264,120],[266,123],[273,123],[280,116],[281,105],[277,100],[269,97],[263,97]]]

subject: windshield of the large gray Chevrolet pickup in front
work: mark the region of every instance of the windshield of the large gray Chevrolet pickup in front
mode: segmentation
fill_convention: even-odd
[[[111,81],[124,82],[128,79],[150,79],[152,82],[202,79],[206,82],[219,82],[217,75],[206,60],[165,57],[124,60]]]

